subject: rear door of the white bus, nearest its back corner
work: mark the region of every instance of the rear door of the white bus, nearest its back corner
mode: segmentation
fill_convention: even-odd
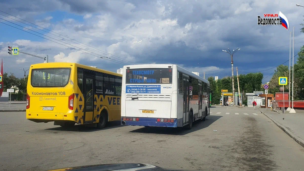
[[[189,79],[183,79],[183,91],[184,91],[184,107],[183,107],[183,125],[189,122]]]

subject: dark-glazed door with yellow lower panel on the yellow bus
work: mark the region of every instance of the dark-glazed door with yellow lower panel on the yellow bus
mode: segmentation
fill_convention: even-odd
[[[93,75],[84,75],[84,98],[85,98],[85,108],[83,114],[84,123],[93,122],[93,106],[94,106],[94,76]]]

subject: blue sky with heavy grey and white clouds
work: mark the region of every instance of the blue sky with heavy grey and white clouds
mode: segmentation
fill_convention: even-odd
[[[21,53],[9,55],[8,46],[41,57],[48,55],[49,62],[76,62],[112,72],[124,65],[177,64],[200,72],[202,77],[205,72],[207,79],[231,76],[231,57],[222,50],[240,48],[233,55],[234,75],[236,67],[239,74],[261,71],[266,83],[275,71],[273,67],[289,58],[293,27],[294,55],[304,45],[304,33],[300,32],[304,8],[297,7],[297,3],[300,2],[1,1],[0,58],[3,71],[18,78],[24,75],[19,68],[27,69],[43,63],[43,59]],[[264,18],[264,14],[279,11],[288,19],[288,30],[281,25],[257,25],[257,16]]]

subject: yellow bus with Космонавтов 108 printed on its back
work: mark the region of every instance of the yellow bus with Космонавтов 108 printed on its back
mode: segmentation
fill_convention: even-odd
[[[120,120],[122,75],[76,63],[30,66],[26,119],[71,127]]]

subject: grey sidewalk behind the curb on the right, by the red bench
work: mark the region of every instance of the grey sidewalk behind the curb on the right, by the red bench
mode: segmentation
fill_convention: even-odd
[[[304,147],[304,115],[302,113],[279,114],[277,112],[270,111],[270,109],[266,110],[265,108],[260,108],[259,110],[286,134]]]

